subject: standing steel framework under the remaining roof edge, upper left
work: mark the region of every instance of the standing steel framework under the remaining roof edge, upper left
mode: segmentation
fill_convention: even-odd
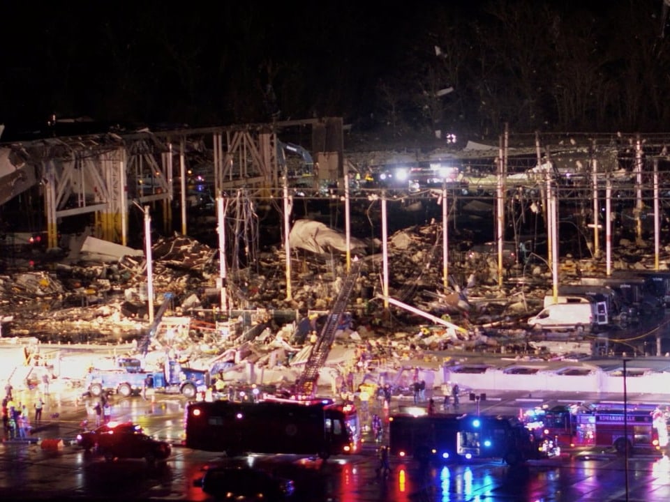
[[[169,220],[170,202],[179,195],[185,211],[186,164],[198,162],[186,155],[189,148],[200,149],[205,160],[195,166],[214,177],[213,196],[224,192],[232,195],[242,189],[251,198],[274,198],[281,195],[283,176],[278,168],[276,130],[319,124],[320,119],[308,119],[161,132],[103,132],[45,137],[12,148],[25,149],[35,166],[34,184],[44,184],[50,246],[57,245],[59,219],[86,213],[95,213],[96,236],[125,244],[131,202],[144,205],[161,201],[165,220]],[[210,146],[203,148],[204,144]],[[213,160],[208,157],[212,153]],[[182,183],[178,192],[174,190],[175,155],[179,155]],[[186,233],[185,226],[182,231]]]

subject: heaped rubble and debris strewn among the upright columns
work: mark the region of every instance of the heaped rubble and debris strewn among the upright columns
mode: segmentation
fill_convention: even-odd
[[[230,271],[228,287],[236,303],[230,317],[216,309],[218,250],[179,235],[154,243],[156,305],[165,293],[175,296],[152,340],[154,351],[177,351],[191,366],[221,372],[230,381],[295,381],[311,350],[310,335],[320,330],[345,275],[341,234],[307,221],[296,228],[302,231],[291,237],[298,249],[292,299],[285,299],[285,254],[271,250],[260,255],[260,272]],[[519,326],[542,307],[551,283],[546,264],[512,266],[498,285],[496,257],[477,256],[463,246],[450,256],[453,280],[445,291],[440,232],[441,224],[433,222],[389,236],[389,296],[464,329],[432,324],[401,309],[385,312],[378,297],[380,243],[356,240],[359,252],[352,254],[364,265],[321,384],[336,386],[356,370],[362,380],[374,375],[370,378],[393,381],[398,388],[417,375],[439,384],[449,349],[526,353],[528,333]],[[623,241],[614,261],[615,268],[648,268],[653,256],[639,243]],[[562,259],[560,280],[603,268],[603,259],[568,257]],[[86,238],[70,259],[48,270],[0,276],[0,312],[12,314],[1,318],[3,336],[121,343],[119,351],[132,353],[148,326],[146,273],[142,251]]]

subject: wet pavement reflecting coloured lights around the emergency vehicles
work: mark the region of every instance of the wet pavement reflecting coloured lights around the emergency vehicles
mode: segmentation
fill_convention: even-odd
[[[36,395],[26,391],[17,397],[29,406]],[[479,403],[480,411],[511,410],[519,406],[519,398],[513,393],[492,396]],[[0,445],[0,496],[5,499],[205,501],[211,498],[193,481],[202,476],[204,466],[229,463],[291,478],[297,486],[294,500],[310,502],[670,500],[670,460],[657,454],[636,453],[626,461],[610,450],[580,449],[521,468],[500,461],[422,467],[392,458],[392,473],[385,477],[376,472],[376,446],[366,434],[362,452],[326,462],[294,455],[226,459],[179,446],[185,401],[178,395],[119,399],[113,407],[115,420],[133,420],[152,436],[170,441],[174,446],[168,462],[157,466],[143,460],[105,462],[73,445],[82,420],[90,418],[80,390],[54,392],[46,401],[45,420],[34,427],[29,442]],[[412,398],[394,397],[391,410],[373,404],[371,413],[383,416],[405,404],[413,404]],[[476,411],[472,402],[463,402],[461,408]],[[49,439],[62,443],[43,448]]]

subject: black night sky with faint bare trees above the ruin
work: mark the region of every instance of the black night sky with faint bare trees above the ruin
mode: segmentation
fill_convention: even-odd
[[[342,116],[393,137],[667,130],[662,0],[602,5],[6,3],[2,140],[52,113],[156,128]]]

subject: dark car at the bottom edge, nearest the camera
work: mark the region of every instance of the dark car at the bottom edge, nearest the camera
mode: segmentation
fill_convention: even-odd
[[[208,495],[226,500],[281,501],[295,491],[292,480],[252,467],[209,467],[193,485]]]

